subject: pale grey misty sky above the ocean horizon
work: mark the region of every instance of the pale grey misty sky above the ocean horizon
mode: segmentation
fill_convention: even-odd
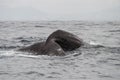
[[[0,0],[0,20],[120,21],[120,0]]]

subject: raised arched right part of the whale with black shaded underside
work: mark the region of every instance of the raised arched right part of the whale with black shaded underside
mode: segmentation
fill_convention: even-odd
[[[46,44],[48,44],[51,40],[54,40],[57,44],[59,44],[64,51],[71,51],[83,45],[83,41],[81,39],[63,30],[53,32],[48,37]]]

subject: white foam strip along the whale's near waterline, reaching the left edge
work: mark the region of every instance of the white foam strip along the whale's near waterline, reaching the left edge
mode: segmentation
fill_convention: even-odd
[[[69,57],[76,57],[81,55],[80,51],[71,51],[66,52],[66,56],[63,56],[63,58],[69,58]],[[28,52],[20,52],[15,50],[9,50],[9,51],[0,51],[0,59],[2,58],[8,58],[8,57],[25,57],[25,58],[43,58],[43,59],[50,59],[50,58],[62,58],[61,56],[48,56],[48,55],[33,55]]]

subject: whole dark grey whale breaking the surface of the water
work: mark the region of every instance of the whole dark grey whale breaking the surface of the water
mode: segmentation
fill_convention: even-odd
[[[75,50],[82,45],[83,40],[78,36],[64,30],[56,30],[48,36],[46,41],[34,43],[18,50],[35,55],[64,56],[66,51]]]

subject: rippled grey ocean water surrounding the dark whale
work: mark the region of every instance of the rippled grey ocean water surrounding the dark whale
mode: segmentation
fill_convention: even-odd
[[[85,45],[66,56],[28,55],[17,49],[66,30]],[[1,21],[0,80],[120,80],[120,22]]]

